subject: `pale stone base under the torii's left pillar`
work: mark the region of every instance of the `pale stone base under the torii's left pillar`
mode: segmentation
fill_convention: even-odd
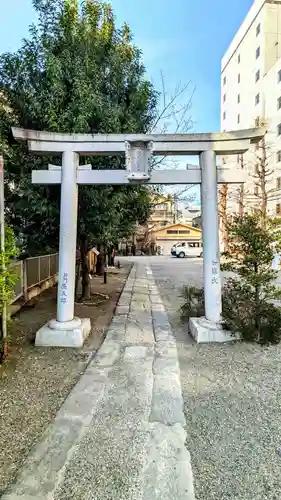
[[[74,318],[60,323],[51,320],[36,333],[35,345],[41,347],[82,347],[91,332],[89,318]]]

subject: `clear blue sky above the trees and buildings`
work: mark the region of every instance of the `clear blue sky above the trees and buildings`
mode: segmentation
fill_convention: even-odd
[[[127,21],[143,50],[149,77],[160,72],[172,92],[196,87],[194,132],[220,128],[220,61],[253,0],[112,0],[118,23]],[[16,50],[35,20],[31,0],[1,1],[0,52]],[[186,95],[188,98],[188,94]]]

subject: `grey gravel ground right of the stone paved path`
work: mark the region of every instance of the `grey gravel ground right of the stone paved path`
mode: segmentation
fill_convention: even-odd
[[[202,283],[202,262],[150,265],[177,339],[196,499],[280,499],[281,346],[195,344],[179,294]]]

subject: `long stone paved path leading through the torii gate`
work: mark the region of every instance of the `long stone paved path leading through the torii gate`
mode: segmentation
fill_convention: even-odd
[[[3,500],[194,500],[177,347],[149,267]]]

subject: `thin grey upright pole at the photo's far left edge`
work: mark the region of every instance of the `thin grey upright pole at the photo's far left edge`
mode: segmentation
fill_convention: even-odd
[[[5,215],[4,215],[4,158],[0,155],[0,249],[2,257],[2,272],[5,272]],[[5,296],[5,282],[3,283],[3,297]],[[4,301],[1,311],[1,327],[2,327],[2,356],[6,356],[6,339],[7,339],[7,304]]]

